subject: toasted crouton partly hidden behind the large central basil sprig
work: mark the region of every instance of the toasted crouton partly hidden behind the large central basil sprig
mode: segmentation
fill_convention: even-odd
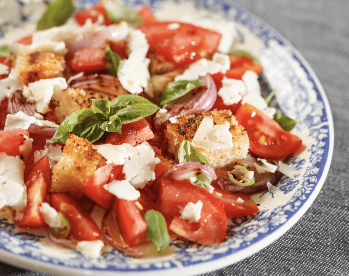
[[[55,108],[55,115],[61,123],[64,119],[76,110],[92,109],[91,99],[112,100],[115,95],[105,92],[85,91],[80,88],[68,88],[62,91],[60,104]]]

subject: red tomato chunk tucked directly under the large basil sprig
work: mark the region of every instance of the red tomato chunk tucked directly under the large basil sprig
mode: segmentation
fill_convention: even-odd
[[[137,144],[154,138],[154,133],[151,131],[149,123],[144,118],[121,125],[121,132],[122,136],[117,132],[108,132],[105,143],[113,145],[128,143],[131,146],[136,146]]]

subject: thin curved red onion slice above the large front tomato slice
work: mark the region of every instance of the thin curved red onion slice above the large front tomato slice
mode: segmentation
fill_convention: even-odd
[[[162,175],[155,179],[152,186],[159,187],[162,179],[171,178],[180,181],[199,174],[205,174],[211,180],[217,179],[216,172],[212,167],[200,162],[186,161],[174,165],[165,171]]]

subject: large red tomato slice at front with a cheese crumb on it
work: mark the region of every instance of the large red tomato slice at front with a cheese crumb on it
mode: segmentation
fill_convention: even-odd
[[[179,207],[201,200],[201,218],[192,224],[180,218]],[[163,179],[156,202],[166,221],[171,221],[170,229],[184,238],[202,245],[221,243],[227,232],[227,215],[223,204],[212,194],[188,181]]]

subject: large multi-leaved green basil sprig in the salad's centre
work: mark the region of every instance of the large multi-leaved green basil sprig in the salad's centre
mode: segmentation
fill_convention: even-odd
[[[65,144],[68,134],[75,134],[91,143],[105,131],[121,133],[121,125],[132,123],[154,114],[159,109],[138,95],[121,95],[112,101],[92,99],[92,109],[81,109],[70,114],[58,127],[51,141]]]

